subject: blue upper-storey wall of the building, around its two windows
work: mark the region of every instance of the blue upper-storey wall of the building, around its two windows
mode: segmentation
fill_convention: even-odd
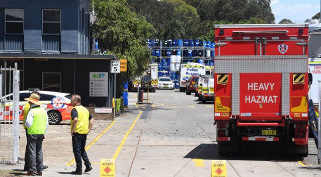
[[[86,30],[89,29],[89,22],[84,18],[86,25],[83,26],[85,30],[82,30],[79,27],[81,18],[78,18],[81,15],[79,11],[83,8],[84,17],[89,15],[89,0],[0,0],[0,24],[5,23],[5,8],[24,9],[24,35],[9,37],[4,34],[4,25],[0,25],[0,50],[89,54],[89,32],[87,32],[89,30]],[[42,9],[61,10],[61,35],[59,37],[42,35]],[[20,42],[17,41],[19,39]]]

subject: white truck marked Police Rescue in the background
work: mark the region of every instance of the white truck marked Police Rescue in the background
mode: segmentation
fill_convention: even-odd
[[[205,75],[205,66],[200,64],[181,64],[180,67],[180,92],[186,91],[188,79],[192,75]]]

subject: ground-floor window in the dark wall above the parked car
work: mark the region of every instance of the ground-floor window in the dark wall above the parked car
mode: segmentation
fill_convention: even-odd
[[[43,72],[42,90],[60,92],[60,72]]]

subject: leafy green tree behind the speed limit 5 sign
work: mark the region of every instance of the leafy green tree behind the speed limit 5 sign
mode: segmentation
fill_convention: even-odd
[[[101,50],[117,58],[127,59],[127,72],[118,77],[121,93],[125,78],[141,75],[150,61],[150,50],[145,39],[155,33],[144,17],[130,12],[125,0],[94,0],[97,20],[93,25],[94,36],[99,40]]]

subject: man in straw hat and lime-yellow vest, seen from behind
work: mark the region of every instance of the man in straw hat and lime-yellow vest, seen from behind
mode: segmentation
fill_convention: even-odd
[[[24,175],[42,175],[42,141],[46,133],[46,127],[49,125],[48,116],[45,109],[41,108],[39,103],[40,96],[31,94],[27,99],[30,110],[26,118],[27,126],[27,145],[29,155],[29,170]]]

